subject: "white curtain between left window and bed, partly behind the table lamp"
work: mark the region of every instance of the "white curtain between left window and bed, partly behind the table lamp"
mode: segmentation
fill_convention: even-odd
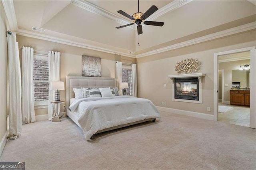
[[[60,81],[60,52],[49,51],[48,52],[48,64],[49,64],[49,82],[51,85],[52,81]],[[52,109],[51,101],[54,101],[55,91],[50,90],[49,85],[49,105],[48,105],[48,119],[51,121],[54,118],[54,111]],[[58,107],[60,109],[60,107]],[[56,110],[56,113],[60,110]]]

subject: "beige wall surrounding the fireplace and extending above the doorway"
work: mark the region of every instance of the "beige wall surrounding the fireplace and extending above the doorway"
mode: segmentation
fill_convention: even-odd
[[[256,32],[252,30],[138,58],[138,96],[152,100],[156,106],[213,114],[214,53],[255,46],[255,40]],[[176,62],[185,58],[197,58],[202,62],[200,72],[206,74],[202,80],[202,104],[172,101],[172,81],[167,76],[176,75],[174,70]],[[164,87],[165,83],[166,87]],[[166,101],[167,106],[162,105],[162,101]],[[206,107],[210,107],[211,111],[208,112]]]

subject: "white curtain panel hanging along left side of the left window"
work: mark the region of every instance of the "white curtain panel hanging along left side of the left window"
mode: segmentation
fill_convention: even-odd
[[[30,47],[22,47],[22,124],[32,123],[36,121],[34,108],[34,49]]]

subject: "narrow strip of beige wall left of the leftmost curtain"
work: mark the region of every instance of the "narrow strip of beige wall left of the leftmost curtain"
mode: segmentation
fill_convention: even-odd
[[[6,132],[6,111],[7,111],[7,38],[5,31],[5,14],[1,2],[1,22],[0,22],[0,140]]]

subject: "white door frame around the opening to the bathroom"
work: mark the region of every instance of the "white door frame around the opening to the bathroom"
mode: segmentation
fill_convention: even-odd
[[[256,103],[256,47],[246,47],[214,53],[214,121],[218,121],[218,56],[250,51],[250,103]],[[256,105],[250,105],[250,127],[256,128]]]

